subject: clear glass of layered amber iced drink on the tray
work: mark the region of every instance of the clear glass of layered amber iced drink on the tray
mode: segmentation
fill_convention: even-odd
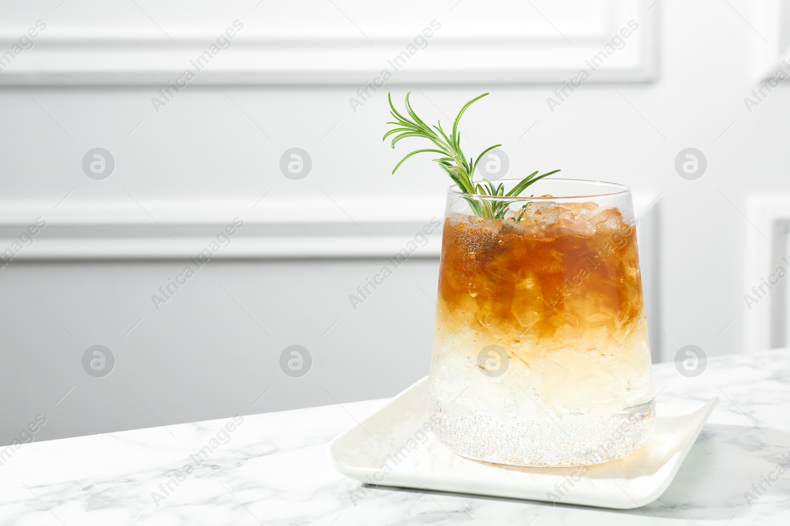
[[[491,218],[473,210],[506,198],[450,188],[431,356],[434,434],[455,453],[501,464],[625,457],[655,427],[630,190],[544,179],[529,192],[541,196]]]

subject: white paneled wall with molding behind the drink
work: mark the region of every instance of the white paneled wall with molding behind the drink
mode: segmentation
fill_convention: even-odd
[[[351,53],[353,60],[347,62],[356,63],[364,55],[364,67],[349,69],[344,78],[323,78],[324,84],[278,84],[286,77],[272,73],[262,58],[246,73],[238,63],[231,67],[236,59],[229,58],[228,71],[207,73],[156,113],[151,98],[158,84],[132,86],[130,79],[144,73],[169,78],[168,68],[179,63],[175,58],[158,73],[145,61],[135,73],[129,66],[134,61],[116,58],[108,62],[117,65],[115,73],[105,64],[82,77],[93,83],[85,85],[58,84],[79,84],[81,77],[73,75],[73,64],[60,73],[55,67],[65,63],[58,56],[72,56],[67,49],[85,62],[94,49],[92,35],[103,35],[106,43],[113,24],[146,28],[145,38],[164,40],[149,17],[133,3],[120,14],[79,0],[57,11],[59,2],[50,3],[6,2],[0,8],[4,38],[16,38],[36,20],[47,21],[36,47],[0,73],[3,248],[36,217],[53,218],[32,247],[0,270],[6,362],[0,395],[8,401],[0,418],[0,443],[40,413],[47,424],[36,438],[56,438],[385,397],[426,373],[433,304],[418,285],[434,294],[435,248],[410,260],[357,310],[348,302],[348,294],[381,267],[386,254],[441,214],[448,184],[427,159],[412,159],[390,175],[404,150],[392,151],[381,142],[387,118],[383,91],[356,111],[349,105],[359,83],[348,79],[369,78],[367,65],[386,62],[390,47],[375,47],[370,57],[368,51],[359,54],[366,40],[329,5],[318,16],[319,27],[329,39],[345,39],[344,50],[333,56]],[[266,2],[254,11],[258,2],[216,8],[209,15],[178,4],[162,12],[151,2],[138,3],[176,41],[185,35],[186,56],[192,43],[200,46],[201,35],[222,31],[226,21],[244,18],[246,30],[256,35],[265,35],[267,24],[277,25],[277,13]],[[585,24],[564,15],[562,6],[533,3],[556,31],[540,13],[525,9],[519,16],[524,28],[532,28],[529,35],[537,35],[534,42],[503,38],[504,43],[496,43],[491,35],[503,19],[495,14],[481,17],[484,30],[477,38],[481,46],[527,51],[535,44],[552,54],[552,63],[559,64],[555,69],[525,51],[524,67],[513,58],[486,72],[483,57],[468,70],[454,69],[455,76],[447,73],[456,84],[435,84],[443,77],[431,69],[431,52],[450,58],[471,53],[450,36],[444,47],[439,43],[443,35],[453,35],[453,21],[463,28],[463,21],[477,16],[471,0],[437,2],[393,22],[397,31],[387,42],[395,48],[402,47],[403,35],[433,19],[441,19],[446,32],[437,32],[436,40],[419,51],[415,71],[404,68],[387,88],[395,99],[413,89],[418,111],[443,121],[443,114],[454,114],[472,96],[491,91],[463,123],[472,150],[501,142],[510,156],[510,173],[559,167],[567,177],[623,181],[642,195],[660,196],[651,207],[660,211],[653,270],[661,284],[654,297],[660,311],[653,337],[663,358],[671,360],[688,344],[709,356],[742,352],[750,315],[743,300],[751,257],[746,239],[754,228],[742,215],[747,197],[790,191],[784,177],[788,90],[774,90],[751,113],[743,102],[781,54],[786,31],[779,26],[778,2],[759,9],[735,0],[633,2],[645,39],[628,46],[633,43],[640,52],[623,58],[621,71],[612,66],[606,76],[591,79],[553,112],[546,99],[559,85],[557,79],[568,78],[574,63],[581,67],[590,50],[600,49],[600,34],[614,34],[622,25],[588,17],[596,32],[585,35]],[[372,9],[378,8],[366,11],[353,2],[337,6],[357,18],[371,39],[389,27],[376,25],[382,17]],[[623,2],[592,6],[621,9]],[[179,9],[180,19],[173,15]],[[291,15],[280,16],[281,25],[294,25]],[[88,27],[83,39],[88,44],[74,40],[73,27],[80,20]],[[206,29],[186,35],[182,29],[193,20]],[[506,29],[517,35],[518,27]],[[558,32],[570,35],[573,44],[564,47]],[[128,47],[145,58],[164,45],[139,50],[130,34],[129,42],[116,42],[112,49]],[[50,47],[44,45],[47,38]],[[259,39],[248,51],[264,53],[267,45]],[[36,68],[50,69],[36,77]],[[96,84],[111,84],[107,79],[114,74],[126,76],[120,85]],[[512,84],[518,75],[521,84]],[[93,147],[106,148],[115,158],[114,173],[103,181],[86,177],[81,168]],[[308,151],[313,161],[300,181],[280,173],[280,156],[291,147]],[[705,174],[694,181],[675,173],[675,156],[686,147],[700,149],[708,161]],[[303,208],[293,208],[295,202]],[[397,206],[401,202],[408,203],[404,214]],[[188,221],[179,221],[178,213],[168,215],[179,206]],[[283,207],[291,212],[280,212]],[[244,213],[234,213],[242,208]],[[289,213],[301,219],[278,226],[276,217]],[[255,234],[235,239],[224,259],[199,270],[159,311],[153,308],[152,293],[235,215],[250,218]],[[164,229],[175,229],[177,241],[154,219]],[[288,235],[303,246],[329,241],[299,253],[299,244],[288,245]],[[113,373],[102,379],[88,376],[80,361],[85,349],[97,344],[107,345],[117,360]],[[314,356],[314,369],[301,379],[286,377],[277,364],[280,352],[293,344]],[[269,386],[272,390],[253,406]]]

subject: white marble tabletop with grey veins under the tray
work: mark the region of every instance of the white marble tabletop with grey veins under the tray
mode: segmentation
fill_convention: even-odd
[[[379,400],[33,442],[0,465],[0,523],[790,524],[790,351],[710,360],[697,378],[660,364],[656,389],[666,403],[720,403],[675,481],[642,509],[359,493],[333,469],[326,445]],[[350,492],[364,497],[352,503]]]

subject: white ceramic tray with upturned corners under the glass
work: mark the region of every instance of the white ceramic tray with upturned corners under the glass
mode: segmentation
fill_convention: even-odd
[[[345,476],[377,486],[631,509],[667,489],[718,398],[700,407],[656,405],[656,431],[619,461],[586,468],[518,468],[472,461],[430,433],[427,377],[329,444]],[[427,425],[426,425],[427,424]]]

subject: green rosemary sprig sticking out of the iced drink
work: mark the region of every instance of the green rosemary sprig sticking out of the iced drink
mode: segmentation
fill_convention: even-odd
[[[553,170],[540,175],[538,175],[537,172],[532,172],[517,185],[513,186],[513,188],[510,188],[510,191],[507,193],[505,193],[505,185],[502,183],[494,185],[494,183],[485,178],[483,178],[483,183],[473,181],[472,177],[474,176],[477,163],[480,162],[480,159],[483,159],[483,156],[489,151],[493,150],[495,147],[502,146],[502,144],[495,144],[494,146],[487,147],[483,150],[483,153],[477,156],[477,159],[472,156],[467,160],[464,152],[461,150],[461,132],[458,131],[458,122],[461,121],[461,116],[469,106],[472,106],[472,103],[475,103],[488,94],[483,93],[483,95],[478,95],[461,108],[461,111],[458,112],[453,122],[453,130],[450,132],[450,135],[442,129],[442,123],[440,121],[437,122],[435,126],[429,126],[417,116],[414,110],[412,110],[412,104],[408,102],[408,96],[411,94],[411,91],[406,94],[406,113],[410,118],[404,117],[404,115],[395,108],[392,94],[387,94],[387,98],[389,99],[389,113],[395,118],[395,121],[389,121],[387,124],[394,125],[395,127],[390,129],[389,132],[386,132],[382,140],[386,140],[387,137],[395,135],[392,139],[392,147],[394,148],[395,144],[401,139],[407,137],[422,137],[423,139],[430,140],[431,143],[434,144],[434,147],[422,148],[408,153],[397,163],[397,165],[395,165],[392,173],[395,173],[406,159],[412,157],[412,155],[426,152],[439,154],[440,156],[437,159],[433,159],[434,162],[438,162],[439,167],[450,176],[456,185],[458,185],[461,192],[469,194],[469,196],[465,196],[464,199],[467,200],[469,206],[472,207],[472,211],[475,212],[475,215],[483,218],[503,219],[507,211],[510,210],[510,204],[515,203],[517,199],[487,200],[475,196],[518,197],[525,188],[529,187],[529,185],[540,181],[540,179],[544,177],[550,176],[552,173],[559,172],[559,170]]]

